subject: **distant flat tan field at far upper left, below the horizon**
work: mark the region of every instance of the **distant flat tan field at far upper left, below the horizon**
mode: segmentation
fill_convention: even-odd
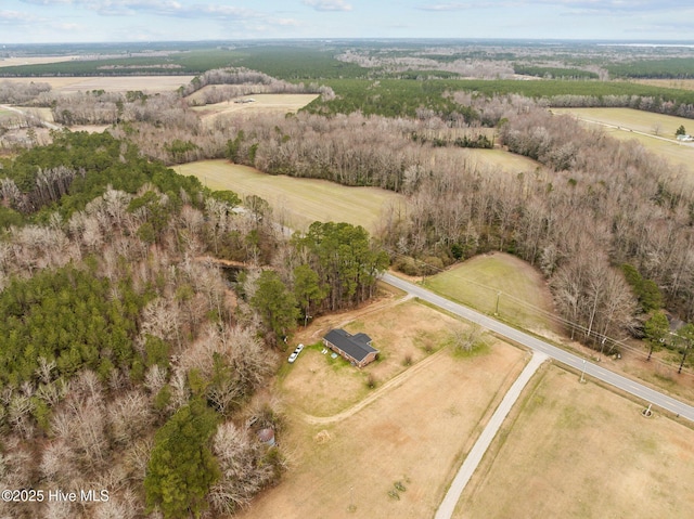
[[[0,81],[14,83],[46,82],[59,93],[105,90],[106,92],[168,92],[181,85],[188,85],[193,76],[120,76],[120,77],[41,77],[41,78],[0,78]]]

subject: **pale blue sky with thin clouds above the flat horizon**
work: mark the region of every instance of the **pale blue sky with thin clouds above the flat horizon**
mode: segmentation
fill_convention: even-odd
[[[274,38],[692,40],[692,0],[0,0],[0,43]]]

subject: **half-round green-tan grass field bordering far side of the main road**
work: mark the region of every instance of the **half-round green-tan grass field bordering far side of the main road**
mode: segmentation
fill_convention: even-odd
[[[553,312],[552,295],[542,274],[514,256],[494,252],[471,258],[440,274],[425,286],[442,296],[531,332],[557,333],[545,312]],[[499,296],[498,296],[499,295]]]

